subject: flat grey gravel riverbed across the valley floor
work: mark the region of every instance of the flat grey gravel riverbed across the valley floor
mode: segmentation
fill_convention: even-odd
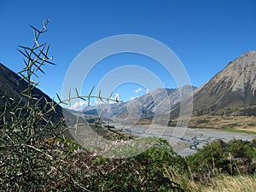
[[[123,125],[114,126],[117,129],[124,128]],[[199,148],[218,139],[224,142],[228,142],[234,138],[251,141],[255,137],[253,134],[246,133],[218,131],[213,129],[166,127],[162,125],[126,125],[123,130],[139,137],[162,137],[182,156],[195,154]]]

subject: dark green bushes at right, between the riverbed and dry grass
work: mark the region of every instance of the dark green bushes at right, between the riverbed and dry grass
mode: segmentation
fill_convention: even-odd
[[[256,172],[256,139],[252,142],[234,139],[229,143],[221,140],[208,143],[187,160],[195,179],[202,182],[222,173],[253,174]]]

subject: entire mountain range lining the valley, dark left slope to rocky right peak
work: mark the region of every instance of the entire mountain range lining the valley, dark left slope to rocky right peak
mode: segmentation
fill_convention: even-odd
[[[26,89],[25,80],[0,64],[0,104],[3,95],[15,96],[26,102],[20,91]],[[50,102],[49,96],[38,89],[33,90],[40,97]],[[223,70],[201,87],[184,85],[178,89],[158,89],[139,96],[128,102],[99,104],[84,108],[82,112],[64,109],[69,117],[72,113],[83,114],[91,120],[101,115],[105,121],[139,124],[176,125],[180,108],[190,108],[193,113],[190,127],[204,128],[247,128],[256,127],[256,51],[249,51],[230,61]],[[44,104],[44,103],[42,103]],[[2,109],[0,109],[0,112]],[[63,116],[61,106],[57,106],[56,119]],[[188,111],[189,113],[189,111]],[[186,115],[186,114],[185,114]],[[73,118],[71,118],[73,121]]]

